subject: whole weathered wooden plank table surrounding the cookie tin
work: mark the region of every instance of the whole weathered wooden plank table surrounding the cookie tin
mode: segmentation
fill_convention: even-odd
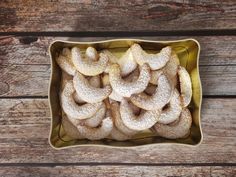
[[[0,176],[236,176],[234,0],[4,0],[0,31]],[[202,144],[52,149],[47,49],[61,37],[197,39]]]

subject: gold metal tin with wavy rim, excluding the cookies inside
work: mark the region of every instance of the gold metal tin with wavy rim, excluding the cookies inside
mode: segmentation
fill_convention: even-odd
[[[133,43],[139,43],[142,48],[150,53],[160,51],[165,46],[171,46],[177,53],[180,64],[184,66],[190,73],[193,97],[188,106],[193,117],[193,124],[190,134],[186,138],[169,140],[161,138],[153,134],[151,131],[140,132],[131,140],[115,141],[111,139],[103,139],[99,141],[76,140],[69,137],[61,126],[61,106],[59,101],[59,89],[61,80],[61,69],[55,62],[55,58],[64,47],[78,46],[81,50],[85,50],[89,46],[95,47],[98,51],[108,49],[118,57],[121,56]],[[198,58],[200,47],[196,40],[187,39],[180,41],[145,41],[137,39],[121,39],[98,42],[67,42],[55,41],[49,48],[52,64],[51,82],[49,88],[49,101],[51,108],[52,124],[49,142],[54,148],[65,148],[70,146],[82,145],[106,145],[115,147],[133,147],[140,145],[148,145],[155,143],[180,143],[188,145],[197,145],[202,140],[201,125],[200,125],[200,108],[201,108],[201,82],[199,77]]]

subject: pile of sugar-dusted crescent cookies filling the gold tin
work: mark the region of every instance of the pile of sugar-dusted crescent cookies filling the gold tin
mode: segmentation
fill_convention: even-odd
[[[147,129],[168,139],[189,135],[191,79],[170,46],[153,54],[135,43],[120,58],[64,48],[56,62],[62,126],[72,138],[123,141]]]

